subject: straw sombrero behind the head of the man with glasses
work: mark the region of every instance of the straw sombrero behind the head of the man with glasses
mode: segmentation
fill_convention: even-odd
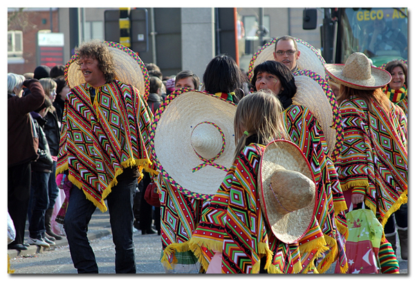
[[[263,63],[264,61],[273,61],[274,59],[274,51],[275,51],[275,42],[278,40],[279,37],[269,41],[261,49],[259,49],[255,55],[252,56],[250,60],[250,64],[248,67],[248,78],[251,81],[252,75],[254,74],[255,66],[258,64]],[[326,72],[324,69],[324,64],[326,61],[320,55],[313,46],[311,46],[306,41],[302,39],[294,38],[297,42],[297,48],[300,51],[299,59],[297,59],[297,66],[300,70],[313,70],[321,77],[326,77]]]

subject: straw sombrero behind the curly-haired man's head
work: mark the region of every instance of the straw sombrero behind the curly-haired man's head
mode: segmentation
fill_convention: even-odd
[[[149,94],[149,73],[140,57],[120,43],[104,41],[109,47],[116,68],[116,79],[137,88],[145,99]],[[73,55],[65,66],[65,79],[69,88],[84,84],[84,75],[76,64],[77,54]]]

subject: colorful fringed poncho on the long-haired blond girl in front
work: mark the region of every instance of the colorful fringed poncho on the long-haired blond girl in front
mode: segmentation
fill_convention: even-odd
[[[307,255],[299,243],[280,242],[261,213],[257,194],[259,162],[265,146],[250,144],[239,153],[219,190],[203,211],[190,247],[207,269],[213,251],[222,253],[222,273],[258,273],[266,257],[268,273],[313,272],[313,261],[324,250],[322,233],[315,231],[320,244]]]

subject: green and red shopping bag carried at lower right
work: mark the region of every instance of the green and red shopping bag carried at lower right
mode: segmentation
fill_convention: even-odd
[[[383,227],[376,219],[374,212],[365,209],[365,204],[362,206],[362,209],[353,211],[350,209],[346,214],[349,229],[346,242],[349,269],[346,273],[379,273],[378,254]],[[340,273],[339,264],[336,264],[335,273]]]

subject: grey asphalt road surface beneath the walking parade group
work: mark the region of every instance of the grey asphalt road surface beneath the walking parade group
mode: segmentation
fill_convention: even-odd
[[[108,212],[101,213],[98,209],[95,211],[89,225],[88,235],[100,273],[116,273],[114,265],[115,249],[112,242]],[[149,274],[149,277],[154,276],[154,274],[165,274],[160,263],[162,249],[160,236],[157,234],[142,235],[141,231],[136,231],[133,234],[133,240],[137,273]],[[43,251],[39,246],[30,246],[28,250],[20,253],[15,250],[8,250],[8,255],[10,257],[10,269],[14,270],[16,275],[77,273],[73,267],[66,238],[60,240],[57,246],[47,251]],[[400,259],[399,246],[397,256],[400,273],[407,274],[408,264],[407,261]],[[334,264],[326,273],[334,273]]]

